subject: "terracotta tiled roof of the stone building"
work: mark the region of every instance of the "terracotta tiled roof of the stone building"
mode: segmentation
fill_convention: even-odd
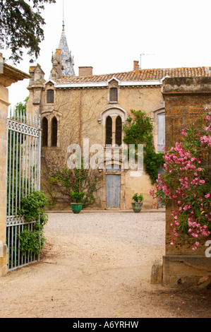
[[[99,83],[109,81],[115,77],[119,81],[156,81],[165,76],[170,77],[202,77],[211,76],[211,67],[183,67],[170,69],[141,69],[140,71],[126,71],[91,76],[61,76],[56,83]]]

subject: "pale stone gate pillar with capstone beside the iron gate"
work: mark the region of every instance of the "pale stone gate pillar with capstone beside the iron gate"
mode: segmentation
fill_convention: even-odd
[[[7,116],[8,86],[29,78],[28,74],[4,63],[0,53],[0,277],[7,273],[6,246],[6,159],[7,159]],[[21,100],[20,100],[21,102]]]

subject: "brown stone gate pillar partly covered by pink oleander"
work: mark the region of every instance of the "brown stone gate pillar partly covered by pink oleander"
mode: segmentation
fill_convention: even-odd
[[[205,108],[211,108],[211,78],[166,78],[163,85],[166,109],[167,149],[181,139],[181,130],[193,124]],[[173,206],[166,208],[166,245],[162,262],[162,280],[168,283],[198,283],[209,280],[211,257],[205,256],[205,244],[197,251],[183,245],[170,245],[169,226]],[[210,239],[210,238],[209,238]],[[208,240],[208,238],[207,238]],[[206,240],[206,241],[207,241]],[[205,241],[205,242],[206,242]]]

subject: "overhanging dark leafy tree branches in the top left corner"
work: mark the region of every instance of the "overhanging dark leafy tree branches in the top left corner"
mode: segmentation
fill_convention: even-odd
[[[44,3],[56,0],[0,0],[0,48],[11,49],[9,59],[13,63],[23,60],[23,49],[28,49],[31,57],[40,54],[39,44],[44,40],[42,25],[45,24],[41,12]],[[31,60],[32,61],[32,60]]]

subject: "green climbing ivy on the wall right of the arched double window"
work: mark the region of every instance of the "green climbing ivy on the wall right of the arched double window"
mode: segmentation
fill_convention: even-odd
[[[157,169],[163,165],[163,153],[155,153],[153,143],[153,124],[150,117],[145,112],[131,110],[133,119],[127,119],[128,124],[123,126],[125,136],[123,141],[126,144],[135,144],[137,150],[138,144],[143,144],[143,162],[145,171],[149,174],[152,184],[155,184],[158,172]]]

